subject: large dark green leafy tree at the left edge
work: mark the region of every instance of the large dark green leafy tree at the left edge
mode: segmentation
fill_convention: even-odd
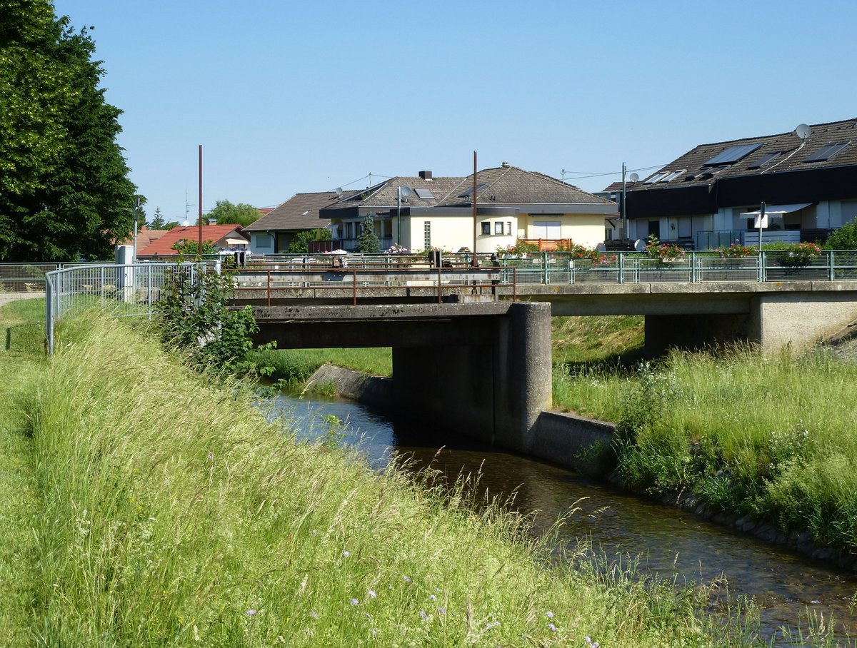
[[[133,227],[94,50],[51,0],[0,0],[0,261],[106,259]]]

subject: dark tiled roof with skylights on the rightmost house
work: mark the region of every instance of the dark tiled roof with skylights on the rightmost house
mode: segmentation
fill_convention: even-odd
[[[741,175],[760,175],[857,164],[857,120],[848,119],[842,122],[812,124],[810,128],[812,134],[806,141],[800,140],[794,131],[790,131],[776,135],[748,137],[743,140],[700,144],[680,158],[668,163],[655,174],[650,174],[644,178],[644,181],[635,183],[633,191],[711,184],[720,178]],[[812,158],[825,146],[838,142],[849,142],[849,144],[826,161],[806,161],[807,158]],[[750,145],[748,146],[750,148],[752,145],[758,145],[758,148],[734,163],[706,165],[706,162],[732,146],[744,145]],[[778,155],[773,157],[775,153]],[[759,167],[758,164],[764,161],[766,162]],[[667,171],[681,171],[681,173],[665,182],[648,184],[645,182]]]

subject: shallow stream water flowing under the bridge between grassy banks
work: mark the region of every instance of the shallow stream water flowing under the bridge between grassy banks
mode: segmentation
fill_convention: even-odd
[[[278,407],[293,418],[299,437],[325,435],[323,417],[333,415],[345,428],[342,442],[357,445],[369,465],[387,467],[393,454],[412,457],[416,467],[432,464],[454,480],[459,473],[480,473],[488,493],[515,493],[522,513],[538,511],[535,532],[543,532],[569,508],[562,540],[570,546],[589,538],[609,560],[623,564],[638,558],[638,568],[680,582],[710,583],[721,577],[731,596],[753,597],[761,607],[766,642],[791,645],[783,628],[806,628],[824,615],[836,621],[842,645],[857,637],[851,605],[857,574],[794,556],[710,524],[678,509],[629,496],[566,468],[491,449],[459,434],[394,422],[351,401],[313,401],[279,397]],[[629,560],[630,557],[630,560]],[[723,586],[724,591],[726,586]],[[857,644],[854,644],[857,645]]]

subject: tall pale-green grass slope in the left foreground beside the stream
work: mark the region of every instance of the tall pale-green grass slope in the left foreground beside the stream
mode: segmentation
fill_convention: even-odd
[[[743,643],[699,615],[704,589],[599,575],[588,560],[548,568],[524,520],[296,443],[244,390],[192,374],[125,324],[71,322],[50,363],[9,362],[18,396],[3,441],[21,464],[0,479],[28,499],[0,526],[4,638]],[[19,558],[6,568],[6,556]]]

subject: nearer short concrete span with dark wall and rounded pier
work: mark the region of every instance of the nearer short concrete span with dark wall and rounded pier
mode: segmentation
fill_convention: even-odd
[[[518,452],[551,405],[550,306],[256,306],[255,342],[393,348],[391,409]]]

